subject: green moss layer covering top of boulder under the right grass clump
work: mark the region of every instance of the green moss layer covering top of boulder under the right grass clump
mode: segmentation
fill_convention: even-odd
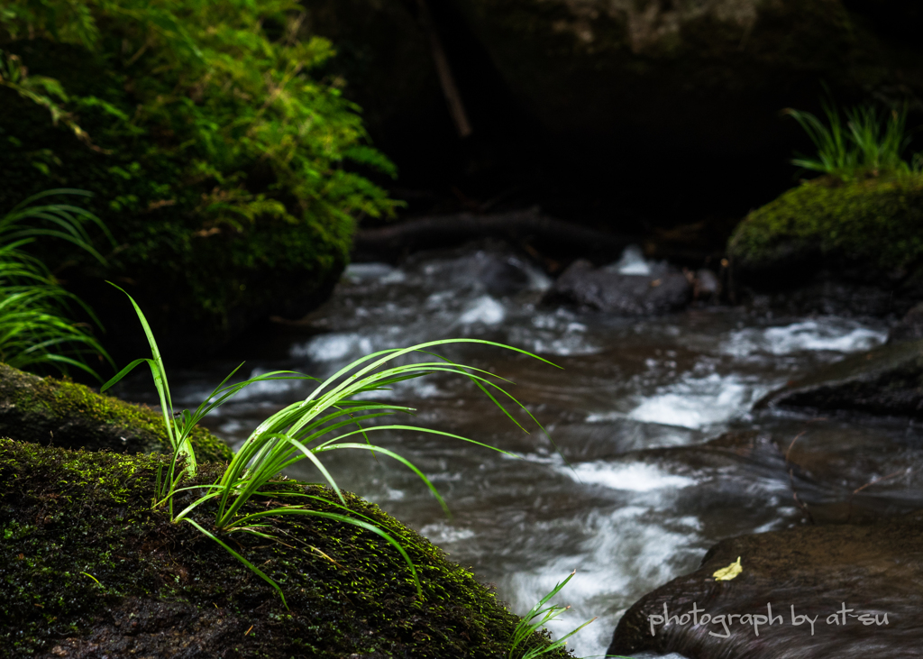
[[[811,255],[907,269],[923,258],[923,174],[806,182],[750,212],[728,253],[747,270]]]

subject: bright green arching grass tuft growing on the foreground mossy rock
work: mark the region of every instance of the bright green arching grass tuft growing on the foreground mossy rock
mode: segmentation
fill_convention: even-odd
[[[114,285],[114,284],[113,284]],[[117,288],[117,287],[116,287]],[[119,289],[121,290],[121,289]],[[123,293],[125,293],[123,291]],[[127,294],[126,294],[127,295]],[[128,295],[129,299],[131,296]],[[102,389],[109,389],[120,379],[125,377],[133,368],[141,364],[147,364],[150,367],[150,373],[154,378],[154,386],[160,397],[161,408],[163,412],[163,423],[166,426],[167,435],[173,447],[173,460],[165,474],[158,474],[156,485],[156,494],[154,497],[154,506],[160,507],[164,504],[169,509],[170,517],[174,521],[186,521],[195,526],[198,531],[204,533],[212,540],[222,545],[234,557],[240,560],[248,569],[251,569],[261,579],[267,581],[282,596],[282,603],[285,604],[285,596],[282,589],[269,575],[258,569],[250,563],[246,557],[235,552],[227,543],[222,540],[222,536],[227,537],[232,533],[250,533],[262,538],[274,539],[272,535],[273,518],[279,518],[284,515],[301,515],[306,517],[322,517],[343,523],[353,524],[361,527],[371,533],[376,533],[382,539],[393,545],[401,554],[404,561],[414,577],[417,594],[424,596],[422,585],[417,578],[414,563],[408,556],[404,547],[395,540],[390,533],[380,528],[374,521],[349,509],[346,498],[343,497],[340,487],[337,485],[333,476],[330,474],[320,456],[334,450],[351,449],[373,451],[376,454],[389,457],[401,462],[408,469],[413,471],[429,488],[437,498],[439,505],[448,513],[449,509],[445,501],[439,495],[436,487],[430,482],[426,475],[422,473],[411,461],[406,460],[401,455],[374,445],[369,440],[368,435],[372,432],[382,430],[407,430],[412,432],[423,432],[441,437],[450,437],[469,442],[471,444],[493,449],[506,455],[513,455],[505,450],[474,441],[467,437],[460,437],[452,433],[439,430],[432,430],[423,427],[411,425],[364,425],[364,422],[377,419],[382,416],[389,416],[394,413],[414,413],[414,409],[402,405],[392,405],[384,402],[367,400],[366,395],[376,391],[386,390],[391,385],[415,377],[424,377],[433,373],[448,373],[462,377],[467,377],[473,384],[484,391],[485,395],[493,401],[497,407],[505,413],[510,420],[523,430],[525,428],[516,420],[512,413],[504,406],[504,402],[511,405],[514,409],[518,408],[533,421],[543,432],[545,429],[535,419],[532,413],[517,399],[515,399],[506,389],[503,389],[495,380],[506,381],[501,377],[473,366],[458,365],[450,359],[432,353],[433,348],[440,345],[451,343],[482,343],[486,345],[497,346],[507,350],[521,353],[553,365],[551,362],[528,353],[519,348],[513,348],[493,341],[481,341],[477,339],[449,339],[443,341],[428,341],[419,345],[408,348],[382,350],[378,353],[368,354],[365,357],[355,360],[352,364],[344,366],[322,382],[304,401],[294,402],[283,408],[277,413],[272,414],[263,423],[258,425],[257,429],[246,439],[243,446],[234,455],[234,460],[227,465],[222,476],[212,485],[181,487],[183,480],[187,477],[194,476],[198,471],[195,451],[189,441],[189,434],[194,425],[198,423],[207,413],[216,409],[219,405],[228,401],[241,389],[260,381],[272,379],[312,379],[306,375],[295,373],[293,371],[274,371],[258,377],[251,377],[243,382],[228,384],[228,381],[237,370],[234,371],[222,381],[221,385],[215,389],[206,401],[198,406],[198,409],[190,413],[183,410],[180,413],[174,413],[173,401],[170,398],[170,388],[167,384],[166,371],[163,367],[160,351],[157,349],[157,343],[150,330],[150,326],[141,309],[131,299],[132,305],[141,321],[145,335],[150,343],[151,357],[148,359],[137,359],[123,368],[119,373],[107,382]],[[407,364],[399,363],[398,360],[405,355],[426,355],[428,361],[411,362]],[[502,401],[502,402],[501,402]],[[361,436],[362,442],[347,441],[350,437]],[[517,457],[517,456],[513,456]],[[334,500],[326,497],[318,497],[305,492],[297,492],[293,489],[283,491],[268,491],[268,485],[282,482],[280,473],[288,467],[291,467],[299,461],[310,461],[323,476],[324,481],[330,486],[334,493]],[[289,485],[311,485],[299,481],[286,480]],[[189,504],[185,509],[174,514],[174,496],[176,493],[185,490],[197,490],[205,494],[198,497]],[[300,503],[279,503],[275,506],[267,504],[267,508],[260,508],[253,511],[247,509],[246,504],[252,497],[264,497],[271,494],[273,499],[292,497],[294,500],[300,499]],[[322,501],[325,506],[331,504],[335,508],[342,509],[341,512],[330,512],[328,510],[311,509],[312,500]],[[190,517],[191,513],[199,509],[206,502],[212,502],[214,521],[211,528],[207,529],[197,520]],[[557,592],[557,591],[556,591]],[[287,607],[287,604],[285,604]]]

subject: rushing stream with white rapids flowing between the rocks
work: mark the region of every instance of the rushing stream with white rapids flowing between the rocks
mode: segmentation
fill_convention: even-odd
[[[629,252],[613,267],[640,273],[646,264]],[[245,370],[325,377],[375,350],[451,337],[509,343],[562,366],[483,345],[442,351],[514,381],[510,392],[545,425],[560,453],[541,432],[523,433],[462,378],[411,380],[382,394],[418,408],[415,419],[398,423],[449,431],[521,456],[422,433],[373,436],[432,479],[451,519],[426,485],[395,461],[336,451],[327,454],[327,464],[342,487],[377,502],[482,581],[496,584],[498,597],[518,613],[577,569],[557,598],[572,610],[551,629],[558,635],[599,617],[571,646],[578,656],[602,655],[629,605],[698,567],[709,546],[802,519],[787,476],[758,462],[710,466],[684,457],[694,452],[670,457],[644,449],[694,447],[735,429],[795,437],[807,418],[754,416],[753,402],[809,368],[880,344],[886,328],[727,307],[615,318],[542,306],[550,284],[499,246],[421,254],[401,268],[354,264],[321,309],[247,344]],[[198,371],[172,370],[174,404],[197,405],[234,365],[218,359]],[[310,389],[304,382],[260,384],[207,425],[237,445],[262,419]],[[151,391],[149,379],[133,379],[120,395],[152,402]],[[810,425],[814,437],[832,442],[851,433],[886,443],[911,431],[898,422]],[[319,480],[302,464],[293,475]]]

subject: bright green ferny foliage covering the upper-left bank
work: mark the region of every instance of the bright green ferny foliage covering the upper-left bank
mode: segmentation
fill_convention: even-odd
[[[0,176],[96,192],[119,243],[108,276],[186,321],[221,330],[238,307],[314,294],[355,219],[394,210],[358,169],[394,168],[314,75],[333,50],[303,18],[291,0],[6,3]]]

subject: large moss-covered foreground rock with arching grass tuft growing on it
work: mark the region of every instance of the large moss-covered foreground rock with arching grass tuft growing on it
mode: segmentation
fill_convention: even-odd
[[[438,547],[354,495],[345,495],[349,508],[407,549],[424,596],[378,535],[288,516],[270,522],[280,542],[229,540],[282,586],[285,608],[221,546],[150,509],[165,461],[0,439],[0,656],[506,656],[518,618]],[[213,482],[219,469],[206,466],[196,482]],[[274,487],[247,509],[279,505],[285,492],[335,499],[320,487]],[[206,505],[193,518],[209,528],[213,512]]]

